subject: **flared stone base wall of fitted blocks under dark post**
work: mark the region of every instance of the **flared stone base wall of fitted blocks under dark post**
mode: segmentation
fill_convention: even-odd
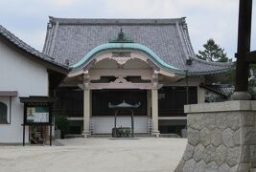
[[[256,167],[256,101],[185,106],[188,143],[175,172],[248,172]]]

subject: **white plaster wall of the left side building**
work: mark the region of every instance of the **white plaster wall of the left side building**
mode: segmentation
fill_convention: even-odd
[[[46,68],[14,52],[0,41],[0,91],[18,91],[18,97],[48,96]],[[11,124],[0,124],[0,143],[22,142],[23,104],[12,97]],[[0,97],[0,101],[8,101]],[[8,109],[9,109],[9,103]],[[26,142],[29,130],[26,127]]]

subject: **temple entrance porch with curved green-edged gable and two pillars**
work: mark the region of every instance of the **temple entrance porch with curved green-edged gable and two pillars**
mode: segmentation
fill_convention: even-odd
[[[116,49],[114,45],[109,44],[109,49],[108,45],[99,46],[85,55],[62,83],[62,87],[77,85],[83,90],[82,134],[111,134],[115,112],[107,105],[125,100],[128,104],[141,103],[134,110],[134,133],[159,137],[158,89],[182,79],[184,73],[164,65],[147,47],[126,44],[131,47],[124,48],[122,44],[122,49]],[[101,53],[96,54],[99,50]],[[129,116],[128,112],[121,112],[117,127],[130,127]]]

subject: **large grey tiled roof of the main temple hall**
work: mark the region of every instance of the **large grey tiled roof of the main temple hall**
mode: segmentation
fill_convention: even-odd
[[[78,63],[97,46],[108,43],[120,32],[135,43],[149,47],[165,63],[190,75],[217,74],[227,71],[232,63],[199,60],[194,53],[185,18],[175,19],[76,19],[50,17],[43,53],[54,56],[58,63]],[[192,64],[187,65],[191,59]]]

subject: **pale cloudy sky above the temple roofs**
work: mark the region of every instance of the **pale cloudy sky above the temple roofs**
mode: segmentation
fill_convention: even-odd
[[[233,57],[237,47],[239,0],[0,0],[0,24],[41,51],[48,16],[76,18],[187,17],[195,49],[213,38]],[[256,50],[256,3],[251,49]]]

